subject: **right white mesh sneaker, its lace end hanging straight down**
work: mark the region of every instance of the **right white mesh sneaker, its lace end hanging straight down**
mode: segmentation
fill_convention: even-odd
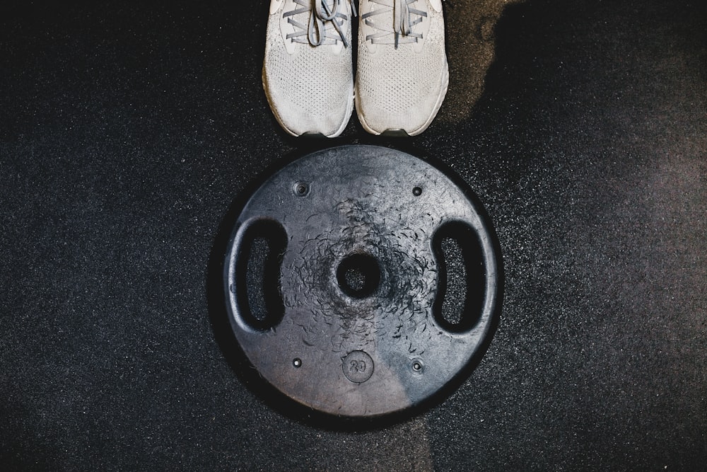
[[[361,0],[356,113],[373,134],[420,134],[447,93],[442,0]]]

